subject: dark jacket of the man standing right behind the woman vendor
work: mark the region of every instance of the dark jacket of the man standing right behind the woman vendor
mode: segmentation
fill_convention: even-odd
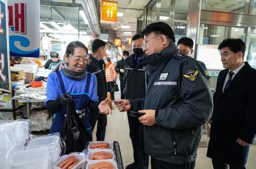
[[[89,61],[86,66],[86,71],[95,74],[97,77],[97,93],[99,97],[99,102],[105,100],[106,98],[106,77],[105,71],[103,70],[103,61],[98,61],[93,58],[92,54],[89,55]]]

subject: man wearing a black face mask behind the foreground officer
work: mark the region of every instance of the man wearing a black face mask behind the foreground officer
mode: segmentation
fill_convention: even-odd
[[[125,99],[138,99],[145,97],[146,78],[145,68],[148,64],[143,50],[143,36],[136,34],[132,38],[134,54],[124,62],[124,97]],[[137,117],[132,117],[127,111],[130,128],[130,138],[133,145],[134,162],[126,166],[129,168],[148,168],[148,155],[144,151],[143,125]]]

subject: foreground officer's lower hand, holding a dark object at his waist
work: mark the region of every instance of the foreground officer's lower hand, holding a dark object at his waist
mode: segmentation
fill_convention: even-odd
[[[153,126],[156,124],[155,114],[156,110],[139,110],[139,112],[144,112],[145,115],[139,117],[140,123],[143,125]]]

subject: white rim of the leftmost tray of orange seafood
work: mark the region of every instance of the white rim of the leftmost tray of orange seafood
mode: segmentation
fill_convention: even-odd
[[[60,157],[58,159],[58,161],[55,163],[54,169],[60,169],[60,167],[58,167],[58,166],[63,161],[65,161],[67,158],[72,157],[72,156],[75,156],[79,160],[79,163],[76,164],[72,169],[80,169],[80,168],[84,168],[86,166],[86,157],[84,157],[82,154],[71,153],[69,155]]]

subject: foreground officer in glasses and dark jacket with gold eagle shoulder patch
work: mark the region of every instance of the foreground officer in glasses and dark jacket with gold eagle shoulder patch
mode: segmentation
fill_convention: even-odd
[[[145,151],[151,167],[194,168],[202,125],[210,119],[212,97],[202,66],[179,53],[164,22],[147,25],[143,50],[148,79],[143,99],[120,100],[120,111],[140,110]]]

